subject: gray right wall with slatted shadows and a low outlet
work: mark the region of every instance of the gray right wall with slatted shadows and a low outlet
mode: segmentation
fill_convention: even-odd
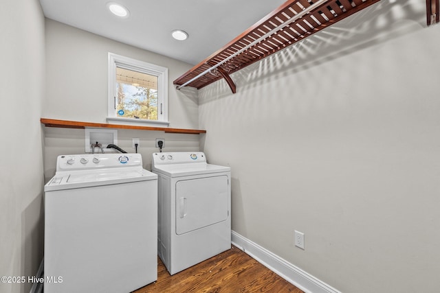
[[[438,292],[440,25],[381,1],[199,91],[232,228],[342,292]],[[305,250],[294,247],[305,233]]]

